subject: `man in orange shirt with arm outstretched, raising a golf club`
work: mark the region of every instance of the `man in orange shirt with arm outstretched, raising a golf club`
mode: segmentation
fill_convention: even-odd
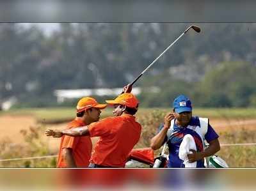
[[[67,130],[49,129],[45,134],[52,137],[63,135],[100,137],[89,167],[125,167],[128,155],[141,135],[141,125],[136,122],[134,116],[138,111],[138,100],[132,93],[124,93],[115,100],[106,100],[106,102],[113,105],[115,117]]]

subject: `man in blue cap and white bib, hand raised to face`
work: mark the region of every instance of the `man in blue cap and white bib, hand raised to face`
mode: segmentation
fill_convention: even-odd
[[[180,95],[173,101],[173,112],[166,114],[159,132],[151,139],[150,147],[159,149],[167,142],[169,149],[168,167],[184,167],[184,161],[179,158],[180,144],[185,135],[192,135],[196,150],[188,153],[189,163],[196,162],[196,167],[204,168],[204,158],[220,151],[218,134],[209,124],[209,119],[192,116],[191,101],[187,96]],[[205,148],[205,142],[209,147]]]

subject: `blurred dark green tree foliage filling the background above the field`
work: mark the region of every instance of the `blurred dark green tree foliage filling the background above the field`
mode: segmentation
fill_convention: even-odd
[[[141,105],[168,107],[184,93],[197,107],[255,107],[256,24],[197,25],[202,33],[184,36],[136,84]],[[55,89],[122,87],[189,24],[56,26],[45,33],[44,24],[0,24],[0,100],[52,107],[59,106]],[[160,92],[148,91],[152,86]]]

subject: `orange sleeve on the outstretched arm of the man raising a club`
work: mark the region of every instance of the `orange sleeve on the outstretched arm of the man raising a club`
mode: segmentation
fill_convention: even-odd
[[[102,119],[98,122],[91,123],[88,126],[90,137],[102,137],[110,134],[111,126],[115,120],[113,118]]]

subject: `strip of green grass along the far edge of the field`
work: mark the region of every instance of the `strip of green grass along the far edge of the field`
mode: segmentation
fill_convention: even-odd
[[[171,112],[171,108],[140,108],[136,116],[145,116],[152,111]],[[38,121],[67,121],[76,116],[76,109],[71,107],[58,107],[58,108],[24,108],[24,109],[12,109],[10,111],[1,111],[0,115],[29,115],[35,116]],[[112,115],[112,109],[107,108],[102,111],[101,117],[105,118]],[[216,109],[216,108],[195,108],[193,109],[194,116],[200,116],[205,118],[255,118],[256,108],[232,108],[232,109]]]

